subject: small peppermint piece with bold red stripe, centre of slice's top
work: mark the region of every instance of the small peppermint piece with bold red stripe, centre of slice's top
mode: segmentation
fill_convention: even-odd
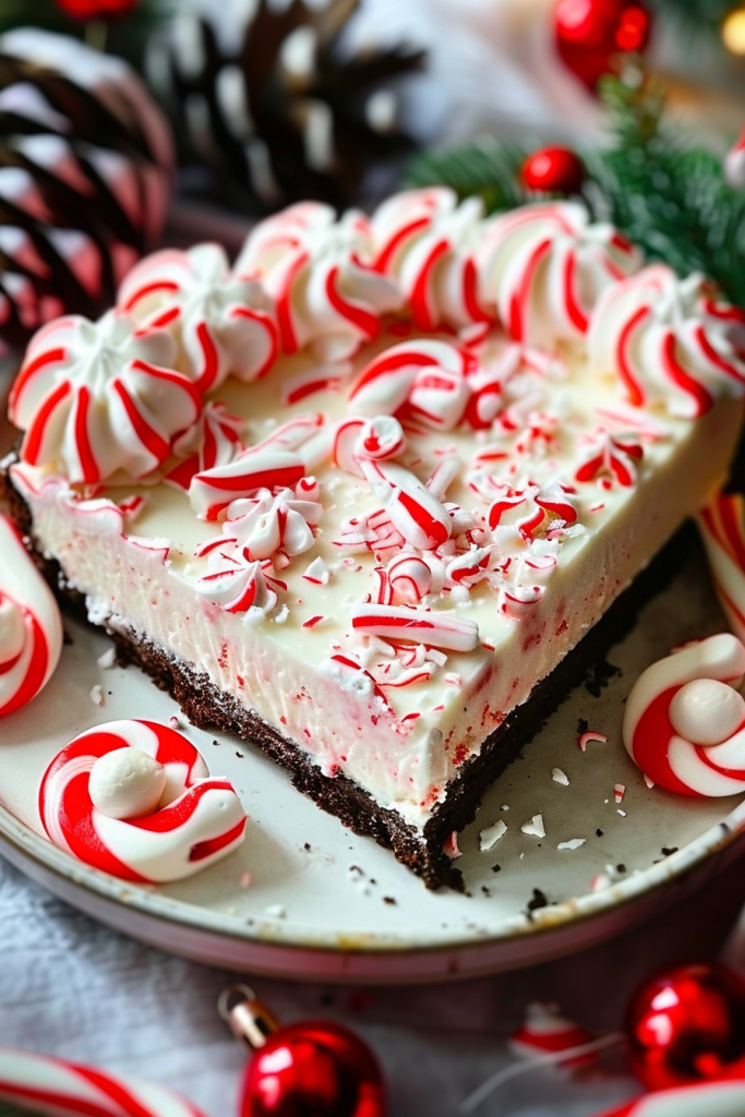
[[[433,551],[450,538],[447,508],[419,478],[393,461],[360,460],[363,472],[393,526],[407,543]]]

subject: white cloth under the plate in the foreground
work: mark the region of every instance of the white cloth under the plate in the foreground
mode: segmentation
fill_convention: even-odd
[[[252,980],[281,1019],[324,1015],[359,1029],[380,1057],[391,1117],[456,1117],[510,1061],[505,1042],[531,1000],[556,1000],[596,1034],[614,1031],[650,971],[711,957],[745,899],[742,862],[652,924],[583,955],[468,983],[405,990]],[[741,949],[739,938],[730,954]],[[237,1114],[245,1056],[216,1012],[235,975],[121,937],[0,860],[0,1043],[137,1073],[181,1090],[208,1117]],[[483,1117],[589,1117],[633,1096],[620,1052],[590,1077],[534,1071]]]

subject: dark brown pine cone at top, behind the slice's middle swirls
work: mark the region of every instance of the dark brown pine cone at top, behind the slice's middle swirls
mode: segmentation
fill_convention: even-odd
[[[293,0],[277,10],[258,0],[231,27],[201,0],[201,16],[180,15],[155,36],[151,85],[185,159],[218,172],[212,190],[259,212],[305,198],[345,206],[372,160],[410,150],[388,83],[421,68],[424,54],[400,45],[344,56],[340,38],[359,3],[318,10]]]

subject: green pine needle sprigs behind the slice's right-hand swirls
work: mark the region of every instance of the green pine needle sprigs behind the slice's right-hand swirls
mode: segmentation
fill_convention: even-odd
[[[585,200],[649,260],[679,275],[703,271],[745,307],[745,191],[725,182],[719,157],[686,143],[667,122],[660,89],[630,68],[608,79],[612,144],[581,151]],[[445,184],[459,197],[479,194],[487,212],[535,200],[519,183],[528,149],[496,140],[414,156],[405,184]]]

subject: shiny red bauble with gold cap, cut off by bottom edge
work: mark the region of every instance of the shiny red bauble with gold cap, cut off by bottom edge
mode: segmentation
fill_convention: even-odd
[[[370,1048],[327,1020],[280,1028],[246,1071],[241,1117],[384,1117],[383,1077]]]

